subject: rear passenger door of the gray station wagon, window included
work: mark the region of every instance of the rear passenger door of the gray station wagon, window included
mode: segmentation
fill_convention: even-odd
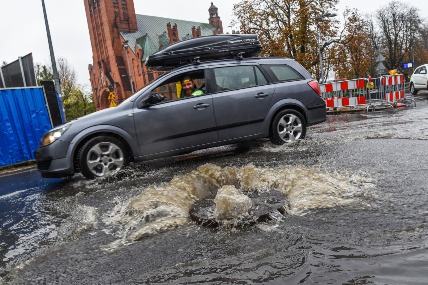
[[[255,135],[275,91],[257,65],[233,65],[212,69],[215,80],[213,104],[219,140]]]

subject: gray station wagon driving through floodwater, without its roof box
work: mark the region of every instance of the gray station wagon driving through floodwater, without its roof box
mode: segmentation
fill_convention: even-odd
[[[183,78],[201,92],[186,97]],[[176,68],[115,108],[50,130],[35,157],[42,177],[95,178],[130,161],[257,138],[284,144],[325,120],[319,84],[295,60],[215,60]]]

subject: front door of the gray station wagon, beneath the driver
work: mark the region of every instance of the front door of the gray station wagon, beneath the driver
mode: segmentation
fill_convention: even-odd
[[[183,99],[173,94],[166,97],[170,99],[144,108],[137,108],[137,101],[134,104],[136,136],[143,156],[185,151],[218,141],[211,94]]]

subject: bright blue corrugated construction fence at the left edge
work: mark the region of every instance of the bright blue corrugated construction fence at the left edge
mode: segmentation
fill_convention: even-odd
[[[0,89],[0,166],[34,159],[53,126],[47,106],[43,87]]]

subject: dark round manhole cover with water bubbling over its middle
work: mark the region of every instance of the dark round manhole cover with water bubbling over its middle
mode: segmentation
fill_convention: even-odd
[[[189,210],[190,217],[198,224],[209,227],[217,227],[226,222],[242,226],[263,222],[269,219],[268,215],[270,213],[275,211],[284,214],[288,208],[287,195],[276,190],[253,192],[248,194],[248,197],[251,199],[252,206],[244,217],[233,220],[215,219],[213,214],[216,208],[214,203],[215,195],[196,201]]]

